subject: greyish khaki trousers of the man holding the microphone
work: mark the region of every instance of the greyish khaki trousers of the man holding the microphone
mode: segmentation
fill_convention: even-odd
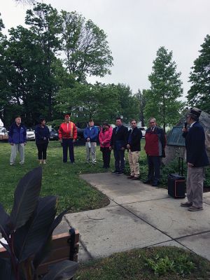
[[[188,167],[187,197],[193,206],[202,207],[203,204],[204,167]]]

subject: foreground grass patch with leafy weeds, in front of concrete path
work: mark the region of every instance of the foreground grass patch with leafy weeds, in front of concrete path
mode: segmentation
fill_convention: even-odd
[[[80,265],[78,280],[209,280],[210,262],[177,247],[115,253]]]

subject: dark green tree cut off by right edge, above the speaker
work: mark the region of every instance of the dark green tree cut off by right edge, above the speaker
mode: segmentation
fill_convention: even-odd
[[[188,91],[188,102],[192,106],[210,113],[210,36],[204,38],[200,55],[195,59],[190,72],[192,86]]]

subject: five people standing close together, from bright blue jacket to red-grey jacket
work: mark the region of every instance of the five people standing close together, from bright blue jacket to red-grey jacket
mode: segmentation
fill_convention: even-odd
[[[94,126],[93,120],[89,121],[88,127],[84,130],[84,138],[86,141],[87,161],[95,164],[97,146],[97,135],[99,133],[100,149],[103,155],[104,168],[110,167],[111,151],[115,158],[115,170],[112,174],[118,176],[125,172],[125,151],[128,151],[128,160],[130,165],[130,176],[128,179],[139,179],[139,153],[141,151],[141,130],[137,127],[137,120],[130,121],[131,129],[128,131],[122,123],[121,118],[116,118],[116,127],[112,127],[108,123],[103,123],[102,130],[98,132]],[[148,158],[148,178],[145,183],[151,183],[152,186],[158,186],[160,183],[160,165],[161,158],[165,156],[165,133],[157,126],[155,118],[149,121],[150,127],[146,130],[145,151]]]

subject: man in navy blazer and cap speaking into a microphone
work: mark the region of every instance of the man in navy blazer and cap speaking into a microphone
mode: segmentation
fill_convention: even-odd
[[[181,207],[188,207],[189,211],[202,210],[204,166],[209,165],[205,146],[204,128],[199,123],[200,113],[197,108],[191,108],[188,113],[189,129],[183,128],[186,139],[186,158],[188,164],[187,197],[188,202],[181,203]]]

